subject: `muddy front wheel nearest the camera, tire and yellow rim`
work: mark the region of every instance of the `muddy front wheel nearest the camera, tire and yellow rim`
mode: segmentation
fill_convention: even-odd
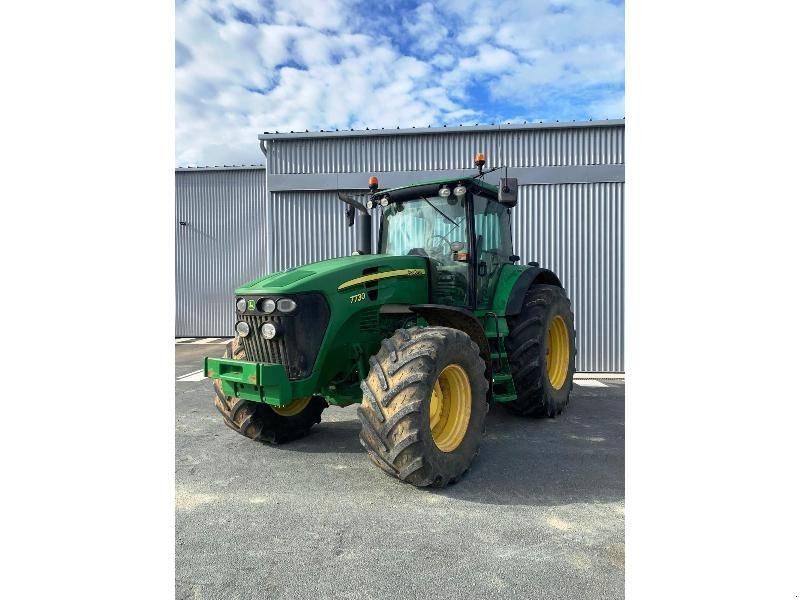
[[[449,327],[399,329],[370,366],[358,407],[370,460],[418,487],[458,481],[478,453],[489,406],[475,342]]]

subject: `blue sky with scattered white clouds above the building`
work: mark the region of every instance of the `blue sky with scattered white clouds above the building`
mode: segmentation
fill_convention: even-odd
[[[624,116],[622,2],[179,0],[176,164],[263,131]]]

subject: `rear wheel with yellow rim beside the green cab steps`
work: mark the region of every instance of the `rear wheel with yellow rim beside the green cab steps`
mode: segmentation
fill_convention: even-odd
[[[553,285],[531,286],[508,327],[506,351],[517,399],[503,406],[525,416],[561,414],[575,372],[575,325],[566,292]]]

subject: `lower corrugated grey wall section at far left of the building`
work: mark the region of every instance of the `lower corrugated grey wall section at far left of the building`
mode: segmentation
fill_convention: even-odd
[[[232,335],[234,288],[266,269],[265,196],[264,169],[175,173],[176,337]]]

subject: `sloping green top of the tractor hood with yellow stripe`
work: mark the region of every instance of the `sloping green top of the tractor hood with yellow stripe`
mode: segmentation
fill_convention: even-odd
[[[390,280],[423,280],[427,289],[427,271],[425,259],[419,256],[388,254],[344,256],[272,273],[237,288],[236,294],[293,294],[321,291],[326,295],[332,295],[337,292],[353,293],[352,290],[363,291],[365,284],[375,285],[372,283],[375,281],[388,283]],[[418,301],[424,302],[425,299]]]

